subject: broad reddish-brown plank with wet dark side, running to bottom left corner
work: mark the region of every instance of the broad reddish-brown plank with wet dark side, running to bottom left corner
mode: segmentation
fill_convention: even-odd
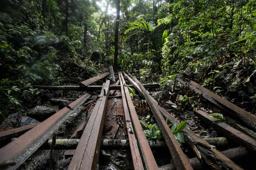
[[[70,114],[89,97],[90,94],[83,95],[68,105],[73,110],[64,107],[62,110],[47,118],[33,129],[30,129],[16,140],[1,148],[0,164],[5,161],[15,161],[15,165],[6,167],[5,169],[17,169],[28,157],[30,157],[30,155],[43,145],[43,143],[50,138],[50,136],[59,128],[68,116],[70,116]]]

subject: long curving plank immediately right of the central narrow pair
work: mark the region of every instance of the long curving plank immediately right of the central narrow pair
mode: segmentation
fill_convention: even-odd
[[[129,76],[132,76],[132,75],[129,74]],[[173,162],[175,163],[176,169],[179,169],[179,170],[191,169],[192,170],[193,168],[190,165],[190,163],[188,162],[186,155],[183,153],[177,140],[171,133],[168,124],[165,122],[165,119],[163,118],[163,116],[161,115],[161,112],[156,107],[156,104],[152,101],[150,94],[147,92],[147,90],[144,88],[144,86],[136,78],[134,78],[134,81],[136,84],[133,84],[133,86],[135,88],[138,86],[141,89],[142,95],[146,98],[148,105],[150,106],[150,109],[158,123],[158,126],[160,127],[160,129],[163,133],[166,144],[171,153]]]

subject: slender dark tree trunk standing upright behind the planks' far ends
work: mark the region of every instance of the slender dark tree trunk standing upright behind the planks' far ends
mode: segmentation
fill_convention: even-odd
[[[119,19],[120,19],[120,0],[116,0],[116,26],[115,26],[114,72],[117,72],[117,70],[118,70],[117,56],[118,56]]]

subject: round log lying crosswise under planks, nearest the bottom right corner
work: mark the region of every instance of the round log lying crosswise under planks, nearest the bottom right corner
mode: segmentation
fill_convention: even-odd
[[[233,161],[249,155],[249,152],[243,147],[228,149],[226,151],[222,151],[221,153]],[[203,165],[198,158],[191,158],[188,161],[194,170],[203,169]],[[159,170],[175,170],[175,166],[174,164],[168,164],[159,167]]]

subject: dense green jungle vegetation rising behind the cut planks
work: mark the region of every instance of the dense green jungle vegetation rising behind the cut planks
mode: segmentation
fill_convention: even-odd
[[[33,103],[33,85],[77,84],[110,64],[145,83],[182,73],[255,102],[256,0],[3,0],[0,8],[0,121]]]

